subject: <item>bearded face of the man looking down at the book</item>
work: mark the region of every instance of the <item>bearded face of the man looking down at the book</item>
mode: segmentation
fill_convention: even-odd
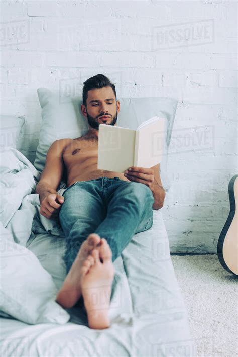
[[[98,129],[99,124],[114,125],[119,111],[120,103],[116,102],[111,87],[88,91],[87,107],[82,105],[88,124],[95,129]]]

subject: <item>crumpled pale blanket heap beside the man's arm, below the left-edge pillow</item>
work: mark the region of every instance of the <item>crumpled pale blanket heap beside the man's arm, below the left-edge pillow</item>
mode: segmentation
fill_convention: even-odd
[[[40,173],[20,151],[12,147],[0,151],[0,221],[23,246],[33,233],[64,237],[59,221],[40,214],[39,195],[35,193],[39,180]]]

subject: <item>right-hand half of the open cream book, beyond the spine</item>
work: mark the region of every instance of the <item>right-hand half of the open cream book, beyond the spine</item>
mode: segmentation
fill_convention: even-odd
[[[153,118],[154,119],[154,118]],[[157,118],[137,131],[135,166],[150,168],[161,163],[163,155],[165,119]]]

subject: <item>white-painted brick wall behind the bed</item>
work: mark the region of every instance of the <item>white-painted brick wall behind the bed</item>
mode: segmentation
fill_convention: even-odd
[[[1,111],[26,117],[22,152],[34,161],[39,87],[65,79],[76,95],[104,73],[118,96],[177,98],[162,209],[170,247],[215,252],[237,173],[236,2],[13,0],[1,14]]]

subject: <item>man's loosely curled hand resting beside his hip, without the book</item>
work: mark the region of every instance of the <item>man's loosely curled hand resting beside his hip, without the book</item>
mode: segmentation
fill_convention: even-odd
[[[54,219],[58,215],[58,210],[64,203],[64,196],[49,194],[41,202],[40,214],[48,219]]]

